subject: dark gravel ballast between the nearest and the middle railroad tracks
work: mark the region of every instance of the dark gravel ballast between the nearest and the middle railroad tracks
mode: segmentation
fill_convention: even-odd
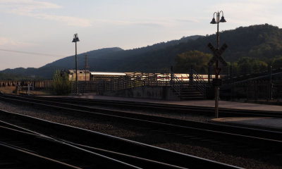
[[[243,168],[282,168],[280,162],[282,156],[280,156],[280,159],[274,159],[272,156],[266,156],[263,152],[261,154],[252,154],[252,150],[246,151],[244,148],[236,149],[224,144],[200,142],[197,139],[178,139],[178,137],[173,134],[160,133],[154,130],[151,131],[146,128],[121,124],[116,121],[83,118],[79,115],[67,115],[66,113],[59,113],[54,110],[47,111],[37,107],[20,106],[4,101],[0,101],[0,109],[30,115],[32,117],[42,118],[56,123],[94,130],[96,132],[103,132],[116,137],[123,137],[125,139],[131,139],[145,144],[152,144],[165,149],[179,151],[192,156],[208,158],[213,161],[228,163]],[[157,115],[157,113],[154,115]],[[161,116],[172,117],[170,115]],[[173,117],[175,116],[177,115],[173,114]],[[203,116],[197,117],[195,115],[190,117],[189,115],[186,115],[185,118],[178,118],[198,121],[209,120],[209,118]],[[250,154],[252,154],[252,156],[250,156]]]

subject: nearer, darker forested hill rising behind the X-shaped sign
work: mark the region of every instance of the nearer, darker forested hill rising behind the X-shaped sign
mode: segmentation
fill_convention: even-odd
[[[223,43],[228,49],[223,53],[223,58],[228,62],[238,61],[243,57],[258,58],[268,62],[273,58],[282,56],[282,30],[272,25],[254,25],[238,27],[235,30],[220,32],[220,46]],[[169,68],[174,65],[178,54],[186,51],[202,51],[211,54],[207,44],[211,42],[216,46],[216,35],[200,37],[194,41],[168,46],[165,49],[151,51],[147,54],[128,58],[116,70],[152,70]]]

